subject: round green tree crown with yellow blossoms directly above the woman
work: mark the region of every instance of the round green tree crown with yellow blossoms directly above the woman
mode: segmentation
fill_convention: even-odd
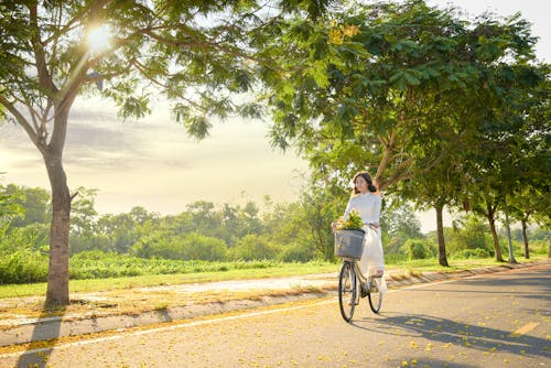
[[[321,25],[291,24],[293,33],[283,58],[293,72],[272,80],[273,142],[295,143],[318,172],[349,177],[368,166],[386,188],[429,171],[462,139],[463,107],[482,89],[474,54],[487,46],[453,13],[423,1],[361,6]],[[441,154],[421,166],[429,140]]]

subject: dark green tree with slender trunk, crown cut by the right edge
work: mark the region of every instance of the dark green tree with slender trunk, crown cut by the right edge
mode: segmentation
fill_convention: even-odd
[[[496,65],[488,82],[494,87],[480,96],[486,113],[477,117],[471,153],[463,160],[469,207],[487,218],[497,261],[504,261],[495,224],[498,214],[507,218],[510,203],[527,191],[537,195],[549,190],[551,130],[541,120],[549,111],[539,112],[548,106],[540,93],[549,86],[548,75],[547,65]],[[516,262],[511,243],[509,261]]]

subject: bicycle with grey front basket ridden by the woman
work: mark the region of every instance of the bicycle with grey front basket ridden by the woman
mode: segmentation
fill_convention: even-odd
[[[364,251],[364,230],[335,231],[335,256],[343,259],[338,275],[338,304],[341,315],[346,322],[352,321],[361,297],[368,297],[369,307],[374,313],[379,313],[382,304],[382,292],[375,281],[382,275],[366,277],[359,269],[358,260]]]

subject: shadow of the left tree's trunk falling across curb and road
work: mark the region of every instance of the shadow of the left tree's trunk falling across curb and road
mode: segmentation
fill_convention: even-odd
[[[61,326],[62,326],[62,317],[65,312],[64,309],[56,310],[55,312],[60,312],[55,318],[51,318],[52,311],[43,307],[43,312],[39,318],[46,318],[45,322],[40,322],[34,325],[33,334],[29,348],[21,354],[18,359],[17,366],[18,368],[44,368],[47,366],[47,361],[50,360],[50,355],[55,347],[57,338],[60,337]],[[44,338],[46,336],[46,338]],[[44,346],[44,339],[48,340],[48,346],[46,348],[42,348]],[[42,340],[42,342],[41,342]]]

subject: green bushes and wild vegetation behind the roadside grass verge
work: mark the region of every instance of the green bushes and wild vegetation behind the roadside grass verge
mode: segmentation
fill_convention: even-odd
[[[196,202],[171,216],[142,207],[99,215],[97,192],[78,192],[71,229],[72,292],[325,273],[338,267],[328,224],[339,217],[342,206],[320,219],[307,196],[291,204],[267,199],[262,205],[249,202],[217,207]],[[42,188],[15,184],[0,186],[0,195],[11,198],[10,220],[4,221],[0,238],[0,297],[43,295],[50,195]],[[344,192],[339,199],[345,203],[346,198]],[[494,259],[488,227],[472,213],[457,214],[454,227],[444,229],[450,267],[439,264],[436,234],[421,232],[411,207],[386,206],[382,229],[389,269],[422,272],[500,264]],[[517,228],[511,232],[519,260],[526,258],[521,232]],[[507,253],[505,228],[498,234]],[[548,256],[549,230],[532,226],[527,237],[530,258]]]

